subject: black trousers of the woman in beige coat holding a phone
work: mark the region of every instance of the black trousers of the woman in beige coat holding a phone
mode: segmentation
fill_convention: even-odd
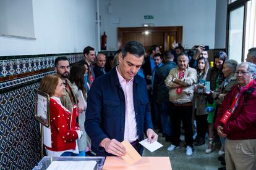
[[[205,134],[208,130],[208,122],[207,122],[208,115],[195,115],[195,120],[197,122],[197,136],[205,138]]]

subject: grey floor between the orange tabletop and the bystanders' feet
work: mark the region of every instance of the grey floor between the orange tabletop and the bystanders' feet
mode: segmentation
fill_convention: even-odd
[[[181,143],[181,148],[169,152],[167,148],[171,143],[165,142],[164,138],[161,137],[161,134],[158,134],[158,142],[164,146],[151,153],[147,149],[144,149],[143,156],[169,156],[171,160],[171,167],[173,170],[180,169],[203,169],[211,170],[218,169],[223,167],[218,161],[218,150],[215,150],[213,153],[206,154],[205,149],[208,144],[201,146],[194,146],[194,153],[192,156],[186,156],[184,142]],[[181,136],[181,140],[184,139],[184,136]],[[183,141],[183,140],[182,140]],[[160,170],[160,169],[159,169]],[[161,169],[162,170],[162,169]]]

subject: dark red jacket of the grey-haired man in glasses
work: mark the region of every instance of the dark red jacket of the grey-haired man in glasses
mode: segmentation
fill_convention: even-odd
[[[233,87],[233,90],[229,92],[224,98],[221,106],[218,108],[218,115],[215,121],[215,128],[217,126],[224,127],[224,133],[228,135],[229,139],[256,139],[256,81],[254,80],[252,87],[254,92],[250,95],[247,103],[244,105],[245,94],[243,92],[249,87],[241,87],[240,100],[236,110],[229,118],[228,123],[225,125],[221,123],[220,119],[224,115],[224,112],[229,109],[232,104],[232,100],[237,92],[237,86]]]

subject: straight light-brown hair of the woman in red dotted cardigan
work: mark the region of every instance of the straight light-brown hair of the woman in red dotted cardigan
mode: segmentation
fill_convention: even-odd
[[[41,79],[39,90],[49,94],[49,96],[54,95],[54,91],[58,86],[58,82],[61,76],[59,75],[47,75]]]

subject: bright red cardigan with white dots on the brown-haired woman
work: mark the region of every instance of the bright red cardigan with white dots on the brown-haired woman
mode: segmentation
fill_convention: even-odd
[[[59,101],[60,102],[60,101]],[[71,114],[69,110],[60,105],[56,100],[49,100],[50,126],[51,126],[51,148],[52,151],[75,150],[78,134],[70,130]]]

